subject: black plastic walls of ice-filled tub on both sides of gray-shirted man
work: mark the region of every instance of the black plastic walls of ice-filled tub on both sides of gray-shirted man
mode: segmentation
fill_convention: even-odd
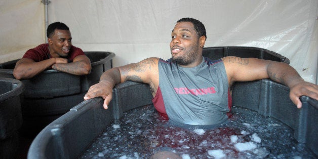
[[[124,112],[152,104],[146,84],[125,82],[116,85],[113,93],[107,110],[103,109],[102,98],[90,99],[48,125],[33,140],[28,158],[76,158]],[[294,130],[293,137],[317,155],[318,101],[303,96],[303,107],[297,109],[288,96],[288,87],[269,79],[236,83],[232,92],[233,105],[285,123]]]

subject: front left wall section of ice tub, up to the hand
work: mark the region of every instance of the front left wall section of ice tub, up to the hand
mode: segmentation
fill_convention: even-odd
[[[35,137],[27,157],[76,157],[113,121],[112,106],[105,110],[103,102],[102,98],[94,98],[71,108]]]

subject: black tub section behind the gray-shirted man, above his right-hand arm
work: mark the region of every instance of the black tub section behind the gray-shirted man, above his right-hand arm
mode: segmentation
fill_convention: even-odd
[[[203,48],[203,56],[217,60],[226,56],[237,56],[242,58],[254,57],[258,59],[284,62],[289,64],[289,59],[267,49],[255,47],[209,47]]]

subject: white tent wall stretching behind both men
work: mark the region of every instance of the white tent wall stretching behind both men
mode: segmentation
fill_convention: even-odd
[[[42,3],[21,0],[20,3],[5,1],[0,4],[0,19],[7,22],[0,24],[1,41],[5,39],[5,43],[0,44],[0,62],[21,58],[27,49],[45,43]],[[30,10],[27,7],[31,4],[36,7]],[[15,5],[17,7],[12,7],[8,13],[3,11],[3,8]],[[192,17],[206,26],[205,47],[268,49],[289,58],[290,65],[306,81],[316,83],[316,0],[51,0],[48,13],[49,23],[60,21],[70,27],[74,46],[84,51],[115,53],[114,66],[138,62],[147,57],[170,58],[171,30],[180,18]],[[15,14],[22,14],[22,17],[8,16]],[[22,26],[12,27],[20,25],[21,21]],[[34,28],[35,31],[32,31]]]

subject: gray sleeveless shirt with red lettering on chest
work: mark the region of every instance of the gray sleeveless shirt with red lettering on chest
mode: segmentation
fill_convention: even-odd
[[[185,68],[171,59],[160,59],[158,70],[158,90],[169,120],[188,125],[215,125],[227,120],[229,94],[222,60],[204,57],[200,65]]]

